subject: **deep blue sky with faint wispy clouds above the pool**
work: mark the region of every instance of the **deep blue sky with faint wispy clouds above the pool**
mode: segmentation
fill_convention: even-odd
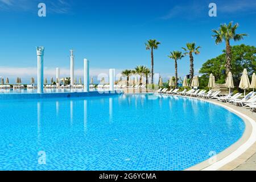
[[[38,16],[38,3],[44,2],[47,16]],[[209,3],[217,4],[217,17],[209,17]],[[0,76],[29,80],[36,76],[35,46],[44,46],[46,77],[69,73],[69,49],[75,49],[75,75],[82,77],[83,59],[90,60],[92,76],[109,68],[150,67],[148,39],[161,42],[155,51],[155,72],[166,80],[174,76],[170,51],[196,42],[201,53],[195,56],[195,71],[220,55],[225,44],[216,46],[212,29],[221,23],[238,22],[238,33],[249,34],[235,44],[255,46],[256,2],[247,1],[68,1],[0,0]],[[189,58],[178,63],[179,76],[189,72]]]

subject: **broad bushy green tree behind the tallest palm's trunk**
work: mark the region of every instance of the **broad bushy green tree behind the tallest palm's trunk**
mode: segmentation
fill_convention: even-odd
[[[256,48],[254,46],[240,46],[230,47],[232,51],[232,75],[236,88],[238,88],[240,78],[242,76],[243,69],[246,68],[248,75],[256,70]],[[207,60],[201,67],[199,73],[203,73],[201,77],[201,85],[207,86],[210,73],[216,78],[216,83],[224,84],[226,75],[224,74],[226,62],[226,50],[223,50],[223,54],[213,59]]]

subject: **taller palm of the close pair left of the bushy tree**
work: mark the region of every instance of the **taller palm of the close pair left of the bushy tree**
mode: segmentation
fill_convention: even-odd
[[[195,55],[198,55],[200,52],[199,52],[199,48],[201,48],[200,46],[199,47],[196,47],[196,44],[195,43],[187,43],[186,44],[187,48],[184,48],[184,55],[189,55],[189,60],[190,60],[190,71],[189,71],[189,77],[191,78],[190,80],[190,83],[192,82],[192,78],[194,76],[194,57],[193,57],[193,53],[195,53]]]

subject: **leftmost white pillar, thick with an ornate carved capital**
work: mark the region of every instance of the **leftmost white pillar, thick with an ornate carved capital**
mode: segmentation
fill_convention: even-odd
[[[44,93],[44,47],[36,47],[38,56],[38,93]]]

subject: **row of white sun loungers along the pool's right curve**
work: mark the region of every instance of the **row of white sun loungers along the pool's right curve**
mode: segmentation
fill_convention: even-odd
[[[208,99],[217,99],[221,102],[226,102],[229,104],[242,106],[242,107],[250,107],[250,110],[256,110],[256,92],[250,92],[245,97],[243,97],[242,93],[229,93],[225,96],[221,96],[221,91],[213,92],[213,90],[200,90],[200,89],[191,89],[179,92],[179,89],[159,89],[156,90],[155,93],[162,93],[162,94],[179,94],[182,96],[191,96],[191,97],[201,97],[201,98],[208,98]],[[242,98],[241,98],[242,97]]]

